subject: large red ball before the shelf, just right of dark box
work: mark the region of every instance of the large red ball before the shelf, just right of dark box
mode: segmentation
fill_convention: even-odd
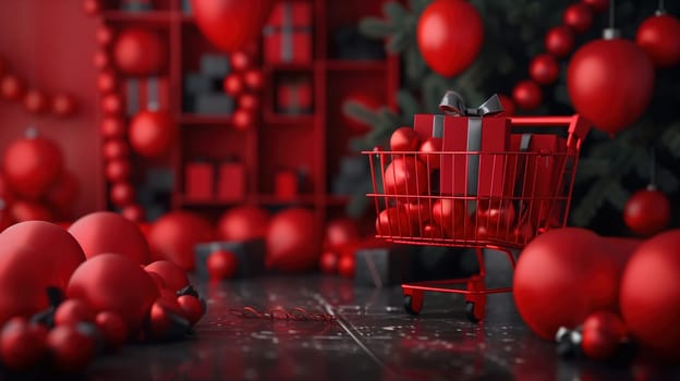
[[[289,208],[276,214],[267,232],[267,265],[284,272],[313,269],[320,255],[321,231],[314,212]]]

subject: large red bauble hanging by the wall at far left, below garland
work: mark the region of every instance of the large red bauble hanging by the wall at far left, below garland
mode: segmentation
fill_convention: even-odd
[[[63,171],[63,157],[47,138],[24,137],[10,143],[2,160],[4,177],[19,195],[37,199],[57,182]]]

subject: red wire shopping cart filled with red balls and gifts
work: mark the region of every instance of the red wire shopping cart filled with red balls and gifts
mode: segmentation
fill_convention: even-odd
[[[479,272],[470,278],[402,284],[409,314],[421,311],[425,292],[456,293],[464,296],[467,318],[479,321],[486,314],[488,294],[512,291],[511,286],[486,286],[483,250],[505,253],[514,269],[513,249],[521,249],[537,234],[566,225],[581,143],[590,122],[575,114],[510,118],[510,125],[513,134],[507,151],[424,156],[376,148],[363,152],[371,160],[373,193],[367,196],[378,216],[377,237],[476,249]],[[555,128],[532,128],[560,126],[568,127],[566,137],[555,134]],[[514,133],[515,127],[531,133]],[[469,183],[471,170],[481,168],[487,179],[497,182],[491,186],[502,189],[499,194],[440,192],[445,188],[440,182]],[[438,171],[445,170],[458,173],[442,176]],[[446,185],[447,189],[460,189],[460,184]]]

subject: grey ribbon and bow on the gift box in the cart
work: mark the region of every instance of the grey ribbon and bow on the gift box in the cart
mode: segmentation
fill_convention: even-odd
[[[490,96],[477,108],[467,108],[463,97],[456,91],[446,91],[439,102],[439,110],[447,115],[467,116],[467,151],[478,152],[482,149],[482,116],[490,116],[503,111],[500,99],[496,94]],[[439,116],[439,118],[437,118]],[[441,136],[444,116],[436,115],[433,122],[433,136]],[[439,135],[434,135],[435,131]],[[479,155],[467,156],[467,194],[477,194],[477,182],[479,176]]]

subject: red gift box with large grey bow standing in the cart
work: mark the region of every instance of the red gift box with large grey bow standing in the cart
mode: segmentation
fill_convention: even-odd
[[[446,115],[416,114],[413,126],[422,138],[441,137],[439,192],[448,196],[502,197],[511,192],[506,170],[510,148],[510,121],[494,116],[502,112],[496,95],[476,109],[465,108],[462,98],[447,91],[440,108]],[[454,152],[454,153],[448,153]]]

